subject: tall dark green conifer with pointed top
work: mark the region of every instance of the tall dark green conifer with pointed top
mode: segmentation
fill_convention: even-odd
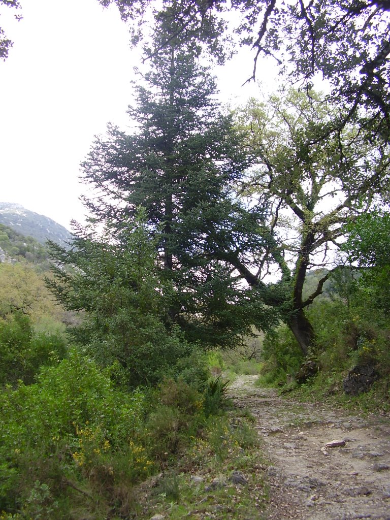
[[[191,343],[233,345],[254,321],[264,328],[275,322],[231,267],[231,258],[267,245],[257,232],[266,207],[249,210],[237,196],[252,156],[231,116],[219,110],[215,81],[199,59],[202,46],[181,37],[174,16],[158,18],[150,45],[167,41],[169,49],[153,53],[135,87],[129,115],[137,132],[110,126],[83,164],[85,182],[102,194],[86,205],[99,224],[109,224],[108,241],[134,225],[142,206],[169,325]]]

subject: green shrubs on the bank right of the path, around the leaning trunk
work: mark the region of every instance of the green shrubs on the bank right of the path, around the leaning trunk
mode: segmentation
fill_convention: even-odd
[[[309,353],[316,373],[297,384],[295,375],[305,358],[290,331],[280,327],[264,341],[259,384],[279,386],[282,392],[293,391],[304,399],[328,399],[366,411],[388,410],[390,322],[387,301],[382,303],[378,297],[383,290],[382,276],[382,270],[378,275],[372,269],[335,271],[328,290],[308,310],[316,323],[316,341]],[[367,364],[375,370],[377,380],[368,392],[347,395],[343,380],[349,370]]]

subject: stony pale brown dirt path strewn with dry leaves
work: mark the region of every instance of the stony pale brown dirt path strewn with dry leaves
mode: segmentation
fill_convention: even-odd
[[[264,439],[270,520],[390,520],[390,420],[278,397],[240,376],[230,386]],[[323,448],[334,440],[344,446]],[[322,448],[322,449],[321,449]]]

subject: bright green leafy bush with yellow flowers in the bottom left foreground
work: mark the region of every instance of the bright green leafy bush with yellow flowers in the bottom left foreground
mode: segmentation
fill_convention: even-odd
[[[35,384],[4,391],[0,410],[0,509],[38,514],[69,496],[78,480],[90,492],[110,493],[151,470],[145,449],[129,441],[142,423],[144,396],[115,389],[75,351]]]

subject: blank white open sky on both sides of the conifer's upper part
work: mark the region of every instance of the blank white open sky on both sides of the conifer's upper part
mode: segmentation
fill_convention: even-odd
[[[14,41],[0,61],[0,202],[70,229],[71,219],[84,220],[80,163],[94,136],[108,122],[131,124],[126,110],[140,54],[118,10],[97,0],[25,0],[19,22],[15,12],[0,7],[0,25]],[[223,102],[257,94],[255,85],[241,86],[251,70],[248,50],[218,70]],[[276,75],[270,64],[259,71]]]

